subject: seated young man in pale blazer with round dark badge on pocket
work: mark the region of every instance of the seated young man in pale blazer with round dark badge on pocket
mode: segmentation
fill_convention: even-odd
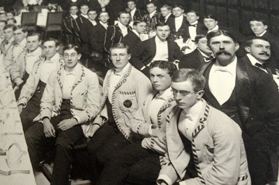
[[[114,152],[141,139],[130,129],[130,119],[152,91],[149,79],[129,63],[126,45],[113,45],[110,58],[114,68],[105,76],[101,111],[91,127],[91,135],[96,133],[88,144],[94,182]]]

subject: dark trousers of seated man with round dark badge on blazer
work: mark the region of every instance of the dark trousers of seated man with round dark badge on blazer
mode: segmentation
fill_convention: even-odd
[[[97,182],[105,163],[112,154],[130,145],[114,122],[105,122],[88,144],[92,165],[92,181]]]

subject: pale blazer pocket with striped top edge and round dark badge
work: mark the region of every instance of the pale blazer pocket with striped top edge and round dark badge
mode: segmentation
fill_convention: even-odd
[[[119,91],[119,108],[121,111],[133,113],[137,109],[135,92]]]

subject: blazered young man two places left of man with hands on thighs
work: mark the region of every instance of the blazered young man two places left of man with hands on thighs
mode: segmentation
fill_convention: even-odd
[[[26,83],[29,74],[32,71],[34,63],[42,58],[42,36],[40,33],[31,33],[27,36],[27,50],[24,55],[20,56],[15,64],[10,69],[10,78],[12,79],[17,89],[15,90],[15,99],[20,96],[20,90]]]

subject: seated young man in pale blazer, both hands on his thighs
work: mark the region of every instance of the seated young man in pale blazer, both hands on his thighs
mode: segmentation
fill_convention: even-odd
[[[63,48],[65,65],[50,74],[40,103],[43,124],[35,122],[25,133],[33,169],[43,156],[45,143],[55,143],[51,184],[68,182],[73,145],[87,136],[89,121],[100,111],[98,77],[78,63],[80,57],[77,46]]]

